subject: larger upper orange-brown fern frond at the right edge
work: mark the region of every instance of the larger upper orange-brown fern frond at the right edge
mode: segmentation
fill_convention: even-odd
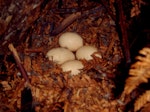
[[[147,83],[150,78],[150,48],[143,48],[139,53],[142,56],[137,56],[137,62],[130,67],[130,77],[126,80],[123,94],[130,94],[141,83]]]

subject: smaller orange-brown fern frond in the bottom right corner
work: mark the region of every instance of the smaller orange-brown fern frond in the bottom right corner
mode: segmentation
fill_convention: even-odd
[[[150,101],[150,90],[146,91],[134,103],[134,112],[140,110],[148,101]]]

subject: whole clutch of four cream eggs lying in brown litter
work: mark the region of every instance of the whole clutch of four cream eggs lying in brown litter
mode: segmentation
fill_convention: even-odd
[[[92,60],[92,55],[102,58],[96,47],[84,45],[83,38],[75,32],[63,33],[59,37],[59,46],[50,49],[46,57],[60,65],[63,72],[70,71],[71,75],[78,75],[84,68],[80,60]]]

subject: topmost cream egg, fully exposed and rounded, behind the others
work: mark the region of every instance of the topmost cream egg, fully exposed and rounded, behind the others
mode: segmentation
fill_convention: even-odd
[[[59,45],[71,51],[76,51],[83,46],[83,39],[75,32],[66,32],[59,37]]]

